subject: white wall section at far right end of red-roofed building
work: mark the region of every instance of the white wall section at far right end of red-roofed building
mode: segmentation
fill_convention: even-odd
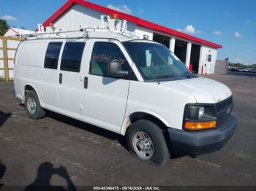
[[[208,61],[208,55],[211,55],[211,62]],[[211,47],[201,47],[199,74],[203,66],[203,74],[214,74],[215,63],[217,60],[217,49]]]

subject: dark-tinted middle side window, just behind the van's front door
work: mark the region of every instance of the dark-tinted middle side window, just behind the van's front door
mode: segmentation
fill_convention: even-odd
[[[79,72],[83,56],[84,42],[67,42],[61,58],[61,70]]]

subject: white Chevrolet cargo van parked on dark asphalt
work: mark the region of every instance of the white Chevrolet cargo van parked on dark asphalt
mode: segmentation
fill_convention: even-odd
[[[32,119],[50,110],[111,130],[157,165],[221,149],[238,122],[227,86],[190,73],[162,44],[113,32],[21,42],[15,95]]]

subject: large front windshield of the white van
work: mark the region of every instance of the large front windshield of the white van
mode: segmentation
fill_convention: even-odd
[[[123,42],[143,79],[196,77],[165,45],[150,42]]]

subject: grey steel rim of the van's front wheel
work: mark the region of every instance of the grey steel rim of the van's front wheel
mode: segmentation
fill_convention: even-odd
[[[132,146],[136,154],[143,160],[149,160],[154,155],[154,143],[151,137],[143,131],[138,131],[132,137]]]

